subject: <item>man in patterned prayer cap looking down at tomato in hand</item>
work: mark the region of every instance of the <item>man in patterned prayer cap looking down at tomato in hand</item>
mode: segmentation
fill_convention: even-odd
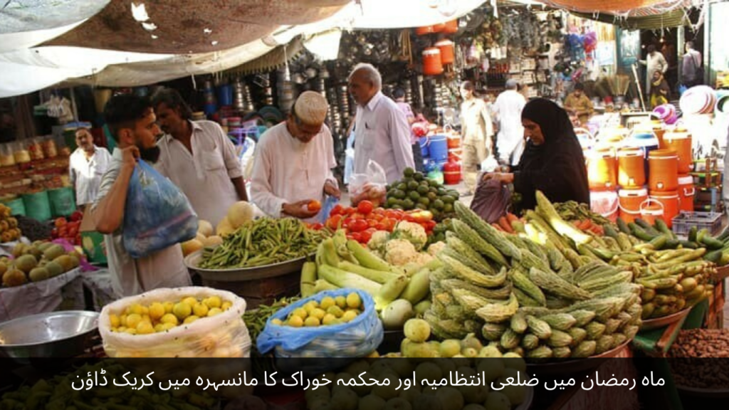
[[[319,209],[309,206],[324,196],[340,197],[332,169],[337,166],[334,140],[324,120],[326,98],[305,91],[284,123],[262,134],[256,146],[251,197],[272,217],[297,217],[312,222]]]

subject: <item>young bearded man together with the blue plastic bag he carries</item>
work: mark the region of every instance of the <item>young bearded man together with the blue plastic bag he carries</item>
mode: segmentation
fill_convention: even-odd
[[[151,104],[138,96],[114,96],[104,117],[117,148],[92,217],[96,230],[106,234],[114,291],[130,296],[190,285],[177,243],[195,237],[198,218],[184,194],[147,164],[160,156]]]

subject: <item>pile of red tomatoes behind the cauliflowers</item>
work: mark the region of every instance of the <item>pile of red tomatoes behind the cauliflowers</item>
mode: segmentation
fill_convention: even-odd
[[[360,201],[356,207],[337,204],[332,208],[329,219],[322,224],[314,224],[313,229],[329,228],[332,231],[343,228],[347,237],[361,244],[367,244],[375,231],[392,232],[402,220],[420,224],[428,235],[433,233],[437,223],[428,211],[402,211],[399,209],[375,208],[370,201]]]

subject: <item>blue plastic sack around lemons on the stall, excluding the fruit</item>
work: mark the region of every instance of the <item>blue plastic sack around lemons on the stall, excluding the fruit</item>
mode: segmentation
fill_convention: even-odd
[[[357,293],[364,303],[364,312],[348,323],[318,328],[292,328],[274,325],[271,320],[286,320],[294,309],[309,301],[321,301]],[[367,292],[356,289],[326,290],[286,306],[268,318],[265,329],[258,335],[261,353],[276,349],[277,357],[364,357],[374,352],[384,337],[382,322],[375,311],[375,301]]]

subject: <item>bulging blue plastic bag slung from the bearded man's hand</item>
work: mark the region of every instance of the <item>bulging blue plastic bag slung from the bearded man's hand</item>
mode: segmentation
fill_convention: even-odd
[[[143,160],[129,181],[124,206],[124,247],[132,258],[189,241],[198,233],[198,215],[169,179]]]

